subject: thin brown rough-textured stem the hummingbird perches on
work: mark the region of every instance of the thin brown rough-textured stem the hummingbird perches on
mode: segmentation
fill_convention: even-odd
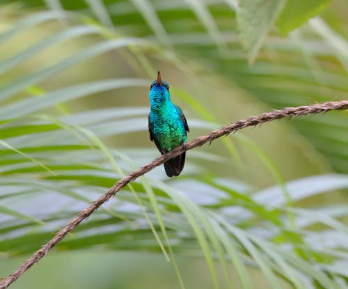
[[[8,276],[7,279],[0,283],[0,289],[8,288],[8,286],[10,286],[11,283],[16,281],[20,276],[22,276],[22,274],[24,274],[24,272],[26,272],[26,270],[28,270],[33,264],[37,263],[49,252],[50,249],[56,246],[58,242],[63,240],[65,235],[74,230],[74,228],[77,227],[81,223],[81,221],[87,219],[90,216],[90,214],[97,210],[102,204],[109,201],[109,199],[114,194],[119,192],[120,189],[122,189],[122,187],[125,187],[127,184],[129,184],[129,182],[136,180],[136,178],[139,178],[141,175],[148,173],[148,171],[151,171],[156,166],[160,166],[168,159],[180,155],[185,150],[191,150],[191,148],[203,146],[205,143],[208,142],[211,143],[215,139],[219,139],[219,137],[221,136],[226,136],[231,132],[237,132],[237,130],[241,130],[244,127],[260,125],[262,123],[267,123],[269,121],[277,120],[279,118],[304,116],[306,114],[319,114],[320,112],[325,113],[326,111],[343,109],[348,109],[348,100],[340,100],[338,102],[323,102],[302,107],[286,107],[285,109],[260,114],[260,116],[251,116],[251,118],[248,118],[246,120],[238,120],[235,123],[223,126],[218,130],[213,130],[210,134],[207,134],[205,136],[199,136],[198,138],[193,139],[193,141],[187,143],[185,147],[180,146],[175,150],[171,150],[171,152],[167,153],[166,155],[161,155],[161,157],[157,157],[152,162],[141,166],[141,168],[132,171],[132,173],[129,173],[127,176],[125,176],[125,178],[122,178],[121,180],[116,182],[116,184],[113,185],[113,187],[111,187],[103,196],[100,196],[100,198],[98,198],[93,203],[88,205],[87,208],[82,210],[77,215],[77,217],[72,219],[69,224],[67,224],[64,228],[61,229],[61,231],[58,231],[58,233],[56,233],[56,235],[51,240],[49,240],[47,244],[43,245],[38,251],[35,251],[35,253],[33,253],[33,255],[28,260],[26,260],[26,262],[23,265],[21,265],[15,272],[13,272],[13,274],[10,274],[10,276]]]

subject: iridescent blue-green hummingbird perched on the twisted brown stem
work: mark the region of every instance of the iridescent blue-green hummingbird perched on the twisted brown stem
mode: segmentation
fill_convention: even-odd
[[[165,155],[169,151],[184,146],[187,142],[189,125],[180,107],[171,101],[169,84],[161,79],[157,72],[157,80],[150,86],[150,114],[148,117],[150,141],[154,141],[159,152]],[[184,168],[186,152],[169,159],[164,163],[168,177],[180,175]]]

